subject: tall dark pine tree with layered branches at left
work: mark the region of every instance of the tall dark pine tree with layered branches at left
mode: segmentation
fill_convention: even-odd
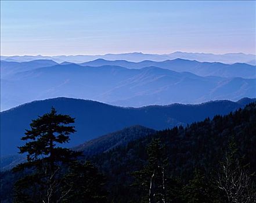
[[[59,147],[70,140],[75,132],[74,118],[57,114],[52,107],[46,113],[34,119],[30,130],[26,130],[21,140],[28,140],[19,147],[21,154],[27,154],[27,162],[13,168],[14,172],[26,172],[27,175],[15,183],[15,202],[59,202],[60,184],[65,166],[80,155],[68,148]]]

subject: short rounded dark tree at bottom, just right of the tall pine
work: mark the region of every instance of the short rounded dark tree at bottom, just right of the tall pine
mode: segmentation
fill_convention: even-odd
[[[64,177],[63,202],[106,202],[105,178],[90,162],[74,162]],[[67,195],[66,195],[67,194]]]

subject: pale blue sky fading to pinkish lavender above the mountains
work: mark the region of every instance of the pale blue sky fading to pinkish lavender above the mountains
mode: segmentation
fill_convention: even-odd
[[[1,55],[255,54],[256,1],[1,1]]]

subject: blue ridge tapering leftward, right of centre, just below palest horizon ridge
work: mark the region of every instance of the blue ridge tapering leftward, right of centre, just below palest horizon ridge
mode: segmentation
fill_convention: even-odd
[[[96,59],[81,63],[81,66],[121,66],[125,68],[143,68],[155,66],[165,68],[177,72],[190,72],[200,76],[218,76],[218,77],[241,77],[241,78],[256,78],[256,66],[251,66],[246,63],[223,64],[223,63],[209,63],[199,62],[196,60],[174,59],[165,61],[141,61],[138,63],[115,60],[109,61],[104,59]]]

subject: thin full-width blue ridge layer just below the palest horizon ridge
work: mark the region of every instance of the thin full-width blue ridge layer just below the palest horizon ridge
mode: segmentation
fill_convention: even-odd
[[[1,78],[8,74],[15,74],[22,71],[35,70],[41,67],[49,67],[57,65],[53,60],[33,60],[26,62],[13,62],[1,60]],[[74,64],[64,61],[60,65]],[[256,78],[256,66],[246,63],[223,64],[199,62],[196,60],[173,59],[165,61],[151,61],[145,60],[140,62],[132,62],[127,60],[104,60],[96,59],[84,63],[78,63],[80,66],[100,67],[100,66],[120,66],[124,68],[145,68],[145,67],[159,67],[177,72],[190,72],[200,76],[218,76],[218,77],[241,77],[241,78]]]

